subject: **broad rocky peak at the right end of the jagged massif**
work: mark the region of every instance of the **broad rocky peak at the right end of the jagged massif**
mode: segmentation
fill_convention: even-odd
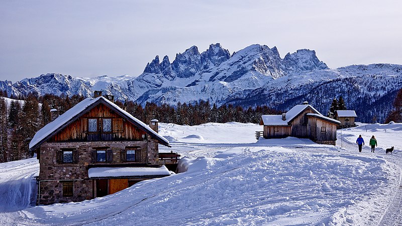
[[[316,51],[309,49],[299,49],[292,54],[287,53],[283,58],[283,64],[289,72],[329,69],[327,64],[317,58]]]

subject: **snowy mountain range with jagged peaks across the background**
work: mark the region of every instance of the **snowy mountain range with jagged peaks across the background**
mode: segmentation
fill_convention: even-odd
[[[402,88],[402,65],[351,65],[330,69],[314,50],[301,49],[281,58],[276,47],[251,45],[229,53],[219,43],[200,53],[192,46],[176,54],[173,62],[159,56],[137,77],[107,75],[80,78],[62,74],[42,74],[12,83],[0,81],[9,95],[53,93],[92,96],[93,90],[145,104],[194,103],[209,100],[218,106],[268,105],[287,110],[309,101],[325,114],[334,97],[340,95],[361,122],[375,116],[383,122],[393,97]]]

